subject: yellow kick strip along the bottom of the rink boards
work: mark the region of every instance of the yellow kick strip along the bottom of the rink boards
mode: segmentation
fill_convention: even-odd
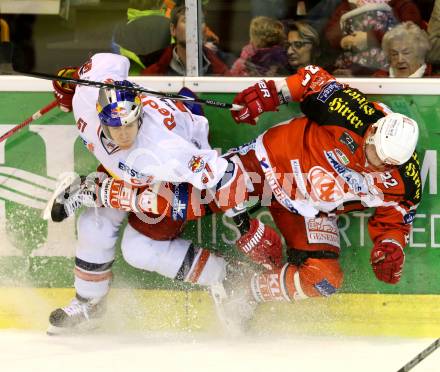
[[[44,331],[50,312],[72,289],[0,288],[0,329]],[[261,305],[250,332],[279,335],[438,337],[440,296],[339,294],[298,303]],[[109,332],[221,334],[205,291],[114,289],[104,329]]]

